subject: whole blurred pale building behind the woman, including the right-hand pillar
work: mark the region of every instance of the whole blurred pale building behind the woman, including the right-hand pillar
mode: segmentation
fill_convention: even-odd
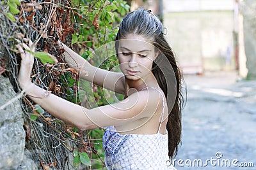
[[[253,46],[244,39],[243,19],[253,4],[255,0],[133,0],[131,10],[142,6],[163,20],[166,39],[184,74],[237,71],[244,78],[249,72],[256,74],[256,46],[248,49],[250,54],[244,50],[244,42]],[[253,11],[249,15],[256,19]],[[252,35],[248,38],[251,43],[256,41]],[[250,57],[247,66],[246,57]]]

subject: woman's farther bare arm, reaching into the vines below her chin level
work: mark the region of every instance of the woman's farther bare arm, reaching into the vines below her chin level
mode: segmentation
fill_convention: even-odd
[[[61,43],[61,41],[59,41],[59,43]],[[68,48],[64,43],[61,43],[61,46],[63,46],[65,50],[63,53],[63,55],[65,55],[65,62],[68,63],[68,66],[78,71],[80,78],[91,81],[114,92],[124,94],[125,81],[123,73],[115,73],[92,66],[92,64]]]

